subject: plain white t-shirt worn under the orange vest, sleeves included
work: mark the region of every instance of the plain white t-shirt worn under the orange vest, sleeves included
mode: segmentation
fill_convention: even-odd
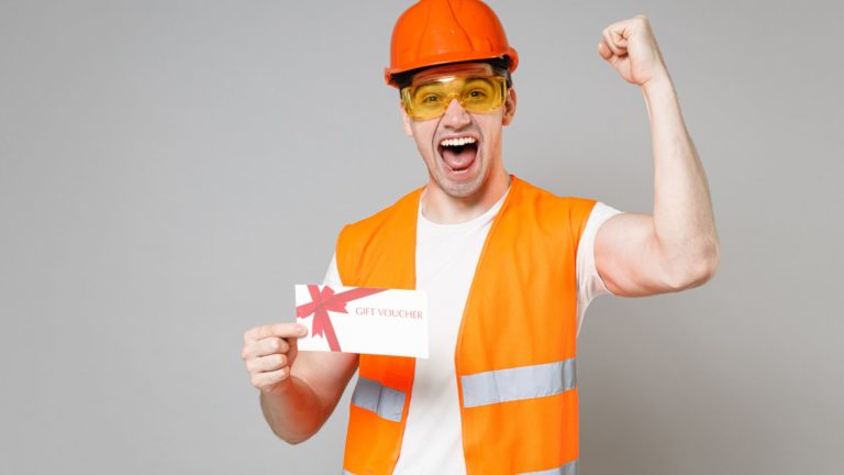
[[[458,224],[437,224],[419,211],[417,288],[427,292],[431,356],[417,358],[396,474],[466,473],[454,347],[484,241],[506,197],[484,214]],[[595,267],[595,235],[604,221],[620,212],[597,202],[580,236],[576,263],[578,332],[592,298],[609,294]],[[324,283],[342,285],[336,255]]]

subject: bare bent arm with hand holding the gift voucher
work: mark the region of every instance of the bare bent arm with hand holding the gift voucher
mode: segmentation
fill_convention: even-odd
[[[296,341],[304,331],[296,323],[276,323],[244,334],[242,356],[253,386],[260,389],[264,418],[288,443],[320,430],[357,369],[356,354],[299,353]]]

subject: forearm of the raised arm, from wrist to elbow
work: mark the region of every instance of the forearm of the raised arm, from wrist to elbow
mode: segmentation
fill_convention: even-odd
[[[703,165],[686,130],[667,71],[642,87],[654,153],[654,235],[666,273],[679,287],[701,284],[720,250]]]

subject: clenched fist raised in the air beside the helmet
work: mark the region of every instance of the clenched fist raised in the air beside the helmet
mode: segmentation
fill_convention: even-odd
[[[598,54],[619,71],[624,80],[643,87],[654,78],[668,77],[663,54],[645,15],[613,23],[603,29]]]

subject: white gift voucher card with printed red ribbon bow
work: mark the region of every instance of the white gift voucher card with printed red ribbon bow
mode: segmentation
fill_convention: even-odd
[[[296,286],[299,350],[427,357],[427,296],[421,290]]]

